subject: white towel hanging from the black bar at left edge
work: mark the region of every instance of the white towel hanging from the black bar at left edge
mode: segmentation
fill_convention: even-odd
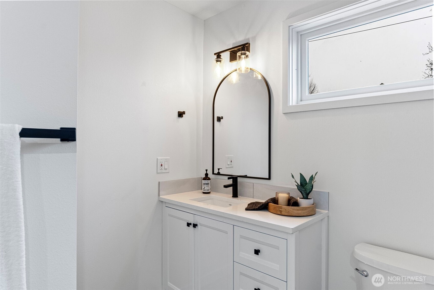
[[[19,125],[0,125],[0,289],[26,289]]]

